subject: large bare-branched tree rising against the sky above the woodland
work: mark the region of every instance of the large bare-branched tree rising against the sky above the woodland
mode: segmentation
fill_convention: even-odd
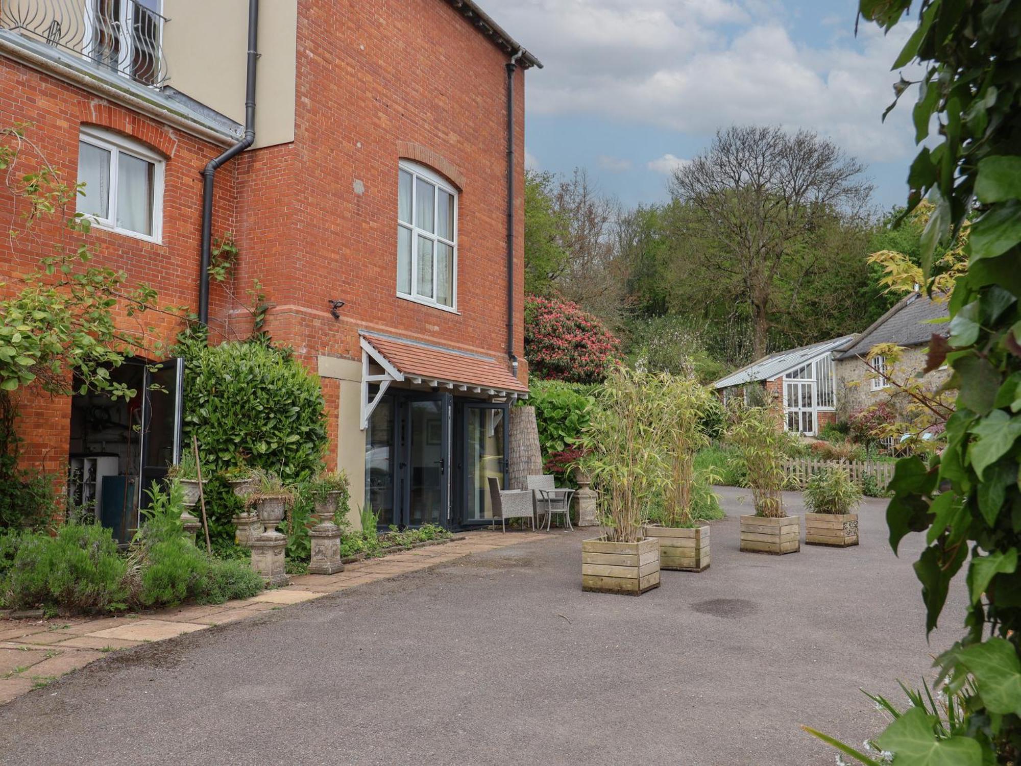
[[[698,257],[737,280],[750,306],[757,357],[767,352],[781,270],[820,252],[812,245],[835,217],[865,214],[872,185],[864,170],[811,131],[731,127],[674,172],[671,193],[694,212],[688,223],[700,240]]]

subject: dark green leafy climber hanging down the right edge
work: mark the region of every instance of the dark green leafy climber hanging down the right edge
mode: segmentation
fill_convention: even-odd
[[[911,5],[861,0],[860,10],[889,30]],[[908,211],[926,195],[933,204],[920,240],[927,289],[934,255],[972,226],[967,273],[950,300],[950,339],[930,346],[929,368],[945,362],[958,391],[944,446],[927,461],[897,463],[886,513],[894,550],[910,532],[926,533],[915,563],[926,630],[963,568],[970,606],[964,636],[936,660],[962,715],[943,720],[914,707],[876,741],[904,766],[1014,764],[1021,757],[1021,2],[922,0],[894,67],[915,60],[924,69],[916,142],[927,142],[933,116],[938,125],[937,142],[922,147],[908,178]],[[910,85],[902,77],[898,98]],[[862,763],[878,762],[836,745]]]

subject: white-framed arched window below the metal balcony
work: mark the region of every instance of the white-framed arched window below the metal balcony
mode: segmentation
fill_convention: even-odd
[[[162,229],[163,160],[124,136],[83,128],[78,210],[104,229],[158,242]]]

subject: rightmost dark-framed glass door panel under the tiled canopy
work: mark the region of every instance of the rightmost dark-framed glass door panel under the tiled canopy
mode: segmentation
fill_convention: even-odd
[[[506,448],[506,408],[502,404],[466,404],[464,523],[492,520],[489,478],[494,477],[503,488]]]

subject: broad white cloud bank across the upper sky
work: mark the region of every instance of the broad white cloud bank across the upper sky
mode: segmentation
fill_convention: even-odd
[[[732,124],[809,128],[867,161],[911,148],[910,94],[887,119],[911,25],[858,40],[826,28],[795,42],[765,0],[504,0],[493,14],[546,67],[528,76],[529,109],[594,114],[706,134]],[[847,19],[849,26],[853,19]],[[908,74],[911,79],[911,73]],[[890,125],[893,123],[893,125]]]

